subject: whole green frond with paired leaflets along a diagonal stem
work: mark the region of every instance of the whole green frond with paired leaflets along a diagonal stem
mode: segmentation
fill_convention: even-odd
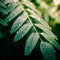
[[[2,3],[5,3],[2,5]],[[28,56],[36,47],[37,42],[40,43],[40,49],[46,60],[55,60],[54,47],[60,50],[60,45],[57,42],[57,37],[51,31],[51,27],[40,16],[40,12],[30,1],[10,1],[5,0],[0,4],[0,24],[7,26],[13,21],[10,34],[15,33],[14,42],[17,42],[26,36],[26,44],[24,55]],[[5,9],[4,9],[4,8]],[[5,16],[3,21],[3,16]],[[31,33],[29,33],[31,31]],[[27,34],[29,35],[27,36]],[[0,34],[1,35],[1,34]],[[45,38],[45,39],[43,39]],[[46,42],[45,42],[46,41]],[[52,54],[52,56],[50,55]],[[47,56],[45,56],[47,55]]]

